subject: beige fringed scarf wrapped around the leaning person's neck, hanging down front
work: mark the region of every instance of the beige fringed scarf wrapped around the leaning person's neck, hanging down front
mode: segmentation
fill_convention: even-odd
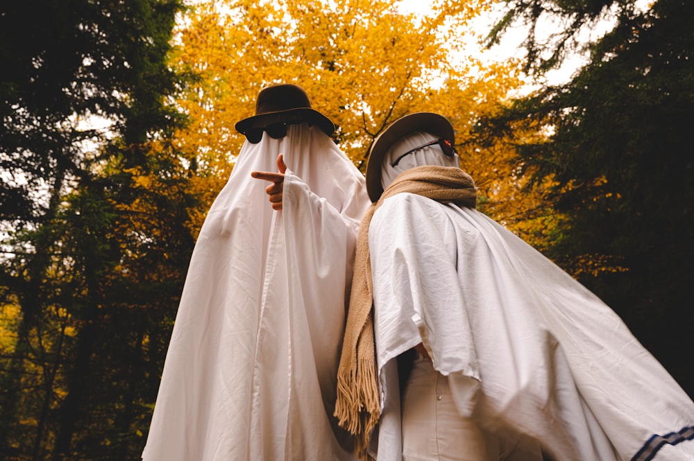
[[[474,208],[477,191],[472,177],[460,168],[418,166],[393,180],[378,202],[369,207],[359,225],[357,254],[342,355],[337,370],[335,416],[340,426],[356,436],[355,453],[369,460],[371,431],[378,423],[380,402],[373,341],[373,282],[369,253],[369,223],[382,202],[401,192],[416,193],[439,202]]]

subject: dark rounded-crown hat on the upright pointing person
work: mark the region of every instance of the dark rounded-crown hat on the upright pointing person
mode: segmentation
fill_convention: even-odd
[[[312,109],[305,90],[288,83],[260,90],[255,103],[255,115],[239,121],[235,128],[239,133],[244,133],[248,128],[264,128],[277,121],[298,120],[317,125],[328,136],[335,132],[335,123]]]

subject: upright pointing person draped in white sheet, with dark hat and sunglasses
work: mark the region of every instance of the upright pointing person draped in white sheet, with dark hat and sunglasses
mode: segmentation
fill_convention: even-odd
[[[246,141],[196,241],[142,459],[353,460],[332,408],[364,176],[296,85],[262,89],[236,128]],[[251,173],[280,153],[275,211]]]

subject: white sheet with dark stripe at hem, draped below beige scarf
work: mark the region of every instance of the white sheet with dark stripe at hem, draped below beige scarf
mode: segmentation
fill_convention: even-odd
[[[379,461],[400,460],[393,358],[419,342],[459,414],[552,459],[694,460],[684,390],[609,306],[498,223],[401,193],[375,212],[369,248]]]

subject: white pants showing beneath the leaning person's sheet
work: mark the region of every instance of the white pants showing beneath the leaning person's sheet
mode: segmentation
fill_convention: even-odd
[[[414,360],[403,399],[403,461],[498,461],[496,437],[461,417],[448,379],[431,360]]]

